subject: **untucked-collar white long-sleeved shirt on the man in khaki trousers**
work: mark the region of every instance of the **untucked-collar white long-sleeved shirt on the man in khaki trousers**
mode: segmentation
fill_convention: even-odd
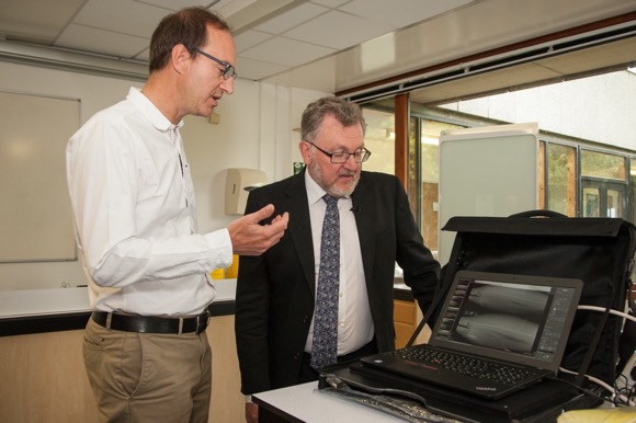
[[[231,263],[227,229],[196,233],[190,167],[178,125],[137,89],[69,140],[67,180],[90,307],[192,316]]]

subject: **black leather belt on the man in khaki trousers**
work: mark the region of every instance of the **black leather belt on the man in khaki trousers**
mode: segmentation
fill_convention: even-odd
[[[109,315],[111,316],[109,324]],[[93,311],[91,319],[101,327],[140,333],[201,333],[207,328],[209,311],[193,318],[160,318]]]

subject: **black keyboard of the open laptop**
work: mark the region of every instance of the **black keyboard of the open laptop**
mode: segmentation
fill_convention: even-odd
[[[533,368],[508,366],[503,363],[421,346],[397,350],[387,354],[402,359],[419,362],[424,365],[442,367],[476,379],[497,381],[507,386],[514,386],[535,375]]]

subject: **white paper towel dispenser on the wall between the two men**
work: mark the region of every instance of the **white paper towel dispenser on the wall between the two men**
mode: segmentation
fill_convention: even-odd
[[[242,215],[248,194],[268,183],[268,175],[258,169],[230,168],[225,180],[225,214]]]

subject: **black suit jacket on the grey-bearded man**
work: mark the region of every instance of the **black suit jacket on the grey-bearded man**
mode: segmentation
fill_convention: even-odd
[[[362,172],[352,194],[378,351],[395,348],[394,270],[404,270],[422,309],[433,298],[440,264],[423,244],[396,176]],[[314,315],[314,245],[304,172],[254,190],[246,214],[266,204],[289,213],[281,241],[261,256],[241,256],[236,341],[246,395],[297,384]],[[268,221],[265,221],[266,224]]]

